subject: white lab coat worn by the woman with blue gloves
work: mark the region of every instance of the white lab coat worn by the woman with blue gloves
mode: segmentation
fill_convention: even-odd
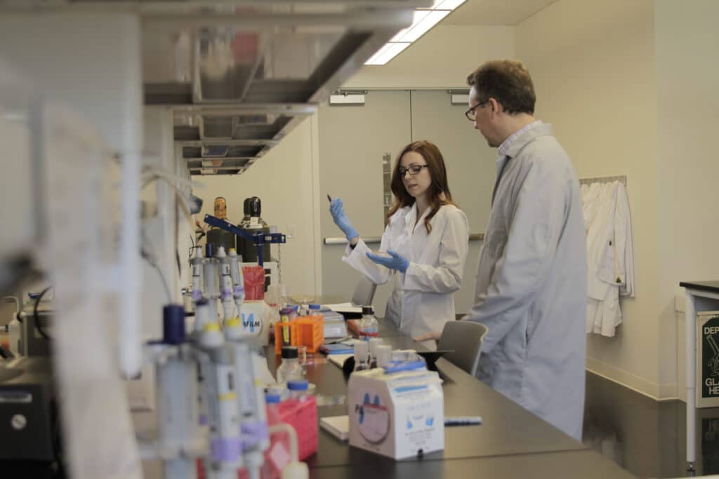
[[[375,284],[395,282],[385,318],[411,337],[441,331],[445,322],[454,320],[454,292],[462,286],[470,241],[467,215],[454,205],[439,208],[429,222],[429,235],[426,215],[429,208],[419,219],[415,206],[402,208],[392,215],[382,235],[379,251],[391,249],[408,259],[405,273],[367,258],[371,250],[361,238],[354,249],[347,245],[342,258]]]

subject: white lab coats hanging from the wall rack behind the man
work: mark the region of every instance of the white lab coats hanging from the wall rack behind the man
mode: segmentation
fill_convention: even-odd
[[[634,296],[634,253],[626,188],[582,185],[587,228],[586,332],[613,336],[622,322],[620,296]]]

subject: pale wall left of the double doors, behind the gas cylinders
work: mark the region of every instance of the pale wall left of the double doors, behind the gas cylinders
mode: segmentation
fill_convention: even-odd
[[[227,216],[232,223],[242,220],[244,198],[259,196],[262,218],[277,225],[280,233],[294,230],[282,246],[282,276],[288,294],[316,294],[315,261],[321,238],[316,225],[316,188],[319,176],[313,173],[316,162],[316,116],[306,118],[282,143],[259,159],[242,175],[193,177],[203,187],[193,193],[203,199],[201,215],[214,214],[214,199],[227,200]],[[325,200],[326,201],[326,200]],[[272,246],[273,256],[277,246]]]

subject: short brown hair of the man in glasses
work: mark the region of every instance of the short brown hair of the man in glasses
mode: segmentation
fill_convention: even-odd
[[[534,113],[534,85],[521,62],[485,62],[467,77],[467,84],[475,88],[480,103],[494,98],[506,113]]]

